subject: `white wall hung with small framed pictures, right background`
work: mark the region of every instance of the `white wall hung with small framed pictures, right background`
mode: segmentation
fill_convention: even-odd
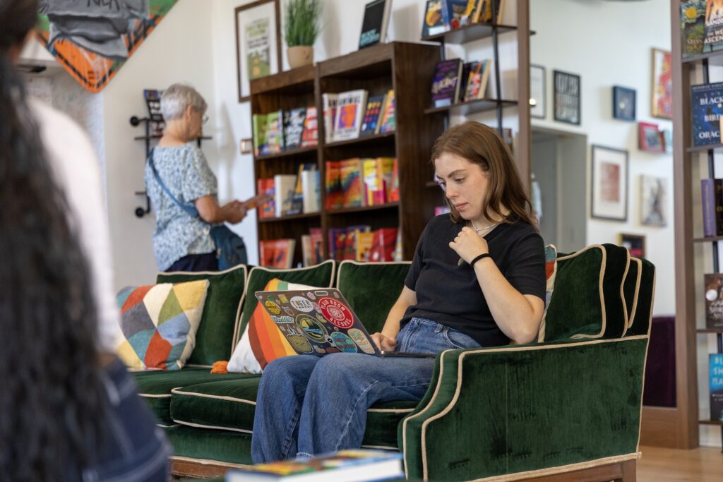
[[[651,116],[651,48],[670,50],[669,1],[532,0],[530,19],[532,30],[536,31],[530,41],[531,63],[544,66],[547,75],[547,119],[532,119],[532,124],[585,133],[590,145],[629,152],[628,221],[597,220],[588,215],[587,242],[618,243],[620,233],[645,235],[646,257],[656,266],[654,314],[674,314],[672,155],[638,150],[637,122],[612,118],[612,86],[623,85],[637,91],[637,121],[672,128],[671,121]],[[580,126],[552,120],[555,69],[581,75]],[[589,149],[587,156],[581,162],[587,163],[590,173]],[[641,224],[641,174],[668,179],[668,224],[664,228]],[[588,213],[589,198],[587,194],[584,199]]]

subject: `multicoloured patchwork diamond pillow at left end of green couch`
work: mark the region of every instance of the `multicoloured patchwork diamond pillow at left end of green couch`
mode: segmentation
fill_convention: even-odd
[[[129,286],[116,296],[125,341],[116,348],[130,369],[179,370],[196,345],[208,280]]]

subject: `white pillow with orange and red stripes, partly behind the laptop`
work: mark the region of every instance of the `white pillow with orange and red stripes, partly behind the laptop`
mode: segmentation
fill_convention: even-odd
[[[287,283],[274,278],[266,283],[263,291],[291,291],[310,290],[311,286]],[[249,296],[248,299],[252,299]],[[236,345],[231,360],[228,361],[228,371],[234,373],[259,374],[271,361],[282,356],[296,355],[281,330],[276,327],[260,303],[257,303],[254,314],[247,324],[241,341]]]

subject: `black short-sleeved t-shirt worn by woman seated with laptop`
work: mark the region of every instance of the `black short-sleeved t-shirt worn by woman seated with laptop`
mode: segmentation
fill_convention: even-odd
[[[482,346],[506,345],[487,306],[474,270],[450,248],[450,241],[465,226],[449,215],[433,218],[424,228],[404,280],[416,292],[416,305],[409,306],[403,327],[413,317],[431,319],[474,338]],[[544,300],[545,266],[542,237],[527,223],[500,224],[485,236],[497,268],[510,285],[523,295]]]

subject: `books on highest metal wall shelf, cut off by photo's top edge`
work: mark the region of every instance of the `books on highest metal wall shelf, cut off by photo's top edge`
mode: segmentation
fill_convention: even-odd
[[[497,23],[502,23],[505,0],[497,0]],[[492,0],[427,0],[422,38],[473,23],[492,23]]]

